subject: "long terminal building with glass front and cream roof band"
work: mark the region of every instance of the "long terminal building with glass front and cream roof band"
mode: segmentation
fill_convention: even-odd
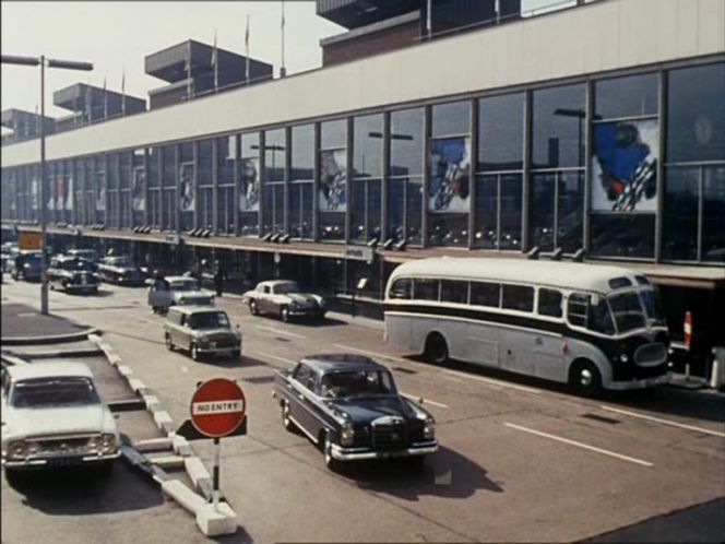
[[[621,263],[661,286],[675,339],[690,310],[693,347],[725,342],[725,0],[317,8],[347,28],[320,69],[197,95],[181,46],[147,57],[169,88],[49,137],[45,203],[37,141],[4,145],[3,236],[45,204],[54,246],[337,300],[367,279],[371,308],[409,259]]]

